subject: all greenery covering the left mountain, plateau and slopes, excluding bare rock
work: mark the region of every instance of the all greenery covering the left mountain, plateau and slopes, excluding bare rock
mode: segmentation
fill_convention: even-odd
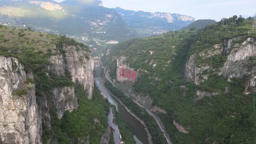
[[[24,84],[36,84],[38,106],[43,111],[49,110],[51,129],[47,129],[46,124],[43,124],[44,144],[47,144],[48,140],[53,144],[84,143],[88,136],[90,144],[99,144],[101,136],[108,127],[108,103],[102,98],[97,88],[94,88],[93,99],[89,100],[83,86],[75,84],[69,72],[56,76],[48,69],[50,55],[64,54],[69,50],[64,49],[64,45],[76,46],[89,53],[88,47],[65,36],[37,33],[26,29],[0,27],[0,33],[1,38],[8,39],[6,43],[0,43],[0,55],[17,58],[24,65],[26,72],[33,72],[34,80],[27,79]],[[63,118],[59,119],[53,103],[52,90],[70,86],[75,87],[79,106],[73,112],[65,112]],[[27,95],[28,90],[29,88],[19,89],[16,94],[24,96]],[[44,103],[42,99],[47,99],[47,108],[42,106]],[[71,99],[67,101],[69,100]]]

